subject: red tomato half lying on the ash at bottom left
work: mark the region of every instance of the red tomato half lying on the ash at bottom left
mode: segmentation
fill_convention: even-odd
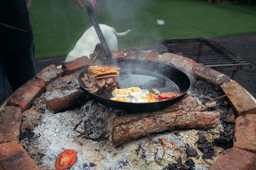
[[[55,167],[59,170],[68,169],[76,162],[77,156],[75,150],[65,150],[61,152],[55,162]]]

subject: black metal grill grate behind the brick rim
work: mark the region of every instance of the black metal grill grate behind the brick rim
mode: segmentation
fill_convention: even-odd
[[[242,66],[250,65],[209,38],[157,39],[154,41],[154,49],[159,53],[182,55],[214,69],[237,71]]]

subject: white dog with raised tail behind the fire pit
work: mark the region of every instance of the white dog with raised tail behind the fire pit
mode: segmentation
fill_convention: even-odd
[[[109,50],[118,49],[116,36],[125,36],[131,31],[131,29],[128,29],[125,32],[116,32],[113,27],[109,27],[108,25],[99,24],[99,26],[104,38],[106,39],[106,42],[108,43]],[[78,39],[74,49],[68,53],[65,62],[70,62],[83,56],[87,56],[90,59],[90,54],[93,53],[97,43],[100,43],[100,40],[94,27],[92,26],[84,32],[80,39]]]

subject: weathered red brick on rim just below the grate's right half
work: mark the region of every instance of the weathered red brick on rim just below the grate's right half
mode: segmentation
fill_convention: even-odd
[[[214,86],[217,86],[220,88],[223,83],[230,80],[228,76],[226,76],[223,73],[220,73],[214,69],[211,69],[210,67],[204,66],[204,64],[196,64],[196,66],[193,69],[193,73],[195,73],[198,76],[198,79],[204,80],[207,83],[211,83]]]

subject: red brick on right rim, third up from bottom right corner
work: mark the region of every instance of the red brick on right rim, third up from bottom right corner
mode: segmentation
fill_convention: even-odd
[[[221,85],[221,89],[228,94],[227,99],[238,115],[256,113],[256,104],[246,91],[234,80]]]

